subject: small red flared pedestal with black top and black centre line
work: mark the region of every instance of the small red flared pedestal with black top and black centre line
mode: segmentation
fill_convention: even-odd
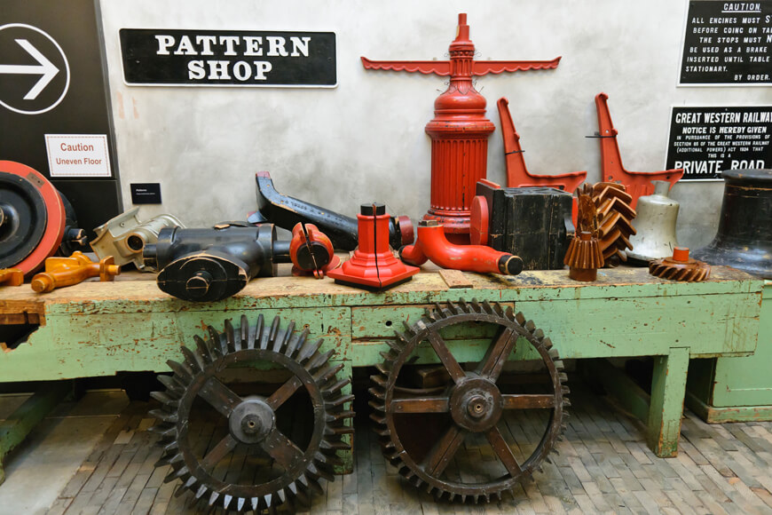
[[[357,222],[357,250],[340,268],[327,272],[327,277],[341,284],[379,290],[409,281],[420,271],[394,257],[389,245],[389,215],[383,204],[362,204]]]

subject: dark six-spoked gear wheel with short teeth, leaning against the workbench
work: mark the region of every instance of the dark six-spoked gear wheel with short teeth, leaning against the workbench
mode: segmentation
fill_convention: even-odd
[[[487,302],[436,305],[405,327],[382,353],[370,389],[384,456],[437,497],[499,499],[539,470],[561,438],[569,390],[557,351],[523,313]],[[484,357],[462,366],[449,347],[453,339],[469,348],[486,345]],[[501,372],[515,353],[532,360],[538,384],[504,380]],[[440,366],[416,368],[418,359]],[[415,384],[416,376],[423,383]],[[526,414],[528,420],[516,420]],[[518,435],[527,438],[518,441]]]

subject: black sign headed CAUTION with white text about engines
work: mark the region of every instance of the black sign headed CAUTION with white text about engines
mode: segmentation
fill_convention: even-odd
[[[690,0],[681,85],[772,84],[772,0]]]

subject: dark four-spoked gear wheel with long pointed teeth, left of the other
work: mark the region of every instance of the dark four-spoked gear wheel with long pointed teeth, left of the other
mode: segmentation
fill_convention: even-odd
[[[173,375],[159,376],[166,391],[151,394],[161,402],[150,412],[160,421],[156,466],[170,465],[165,480],[178,479],[177,495],[192,492],[192,503],[257,513],[308,503],[323,492],[321,479],[334,479],[337,452],[351,448],[350,379],[336,377],[343,364],[320,353],[308,329],[280,328],[279,317],[250,325],[241,316],[240,327],[208,331],[194,350],[181,347],[183,361],[168,361]],[[259,394],[241,392],[256,375],[260,388],[250,388]],[[270,377],[281,377],[278,388],[264,384]]]

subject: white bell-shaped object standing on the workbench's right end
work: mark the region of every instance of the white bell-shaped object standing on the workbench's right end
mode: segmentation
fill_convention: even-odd
[[[678,242],[675,239],[675,221],[681,205],[667,196],[670,183],[666,180],[652,180],[654,194],[638,199],[635,210],[638,216],[633,220],[635,234],[630,237],[633,250],[627,250],[628,258],[639,261],[673,256]]]

